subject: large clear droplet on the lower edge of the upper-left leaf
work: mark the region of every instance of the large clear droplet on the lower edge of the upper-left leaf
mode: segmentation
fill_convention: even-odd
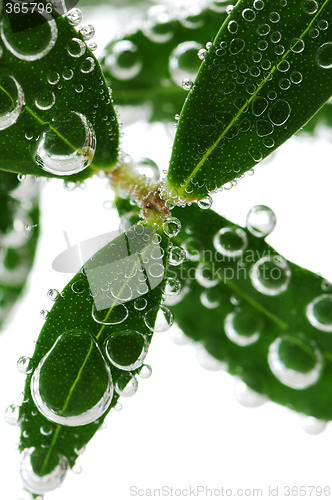
[[[71,111],[52,119],[52,129],[43,133],[38,144],[36,161],[46,172],[72,175],[90,165],[95,150],[96,135],[91,123],[81,113]]]

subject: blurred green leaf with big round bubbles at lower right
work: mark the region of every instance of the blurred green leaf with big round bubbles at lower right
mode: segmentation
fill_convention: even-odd
[[[211,210],[173,212],[188,259],[168,269],[182,290],[166,304],[180,328],[257,393],[331,420],[332,286]],[[264,234],[257,218],[249,227]]]

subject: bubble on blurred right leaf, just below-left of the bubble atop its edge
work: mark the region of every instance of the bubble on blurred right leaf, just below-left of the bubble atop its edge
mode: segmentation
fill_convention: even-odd
[[[243,229],[224,227],[215,234],[213,244],[225,257],[240,257],[247,248],[248,239]]]

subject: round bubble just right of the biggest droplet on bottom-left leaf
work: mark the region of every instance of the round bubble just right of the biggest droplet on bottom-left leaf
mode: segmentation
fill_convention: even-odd
[[[121,370],[139,368],[148,352],[146,337],[135,330],[124,330],[111,335],[106,341],[106,355]]]

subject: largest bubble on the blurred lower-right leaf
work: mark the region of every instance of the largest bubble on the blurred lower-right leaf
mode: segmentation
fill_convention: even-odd
[[[306,389],[320,377],[322,356],[314,342],[300,335],[285,335],[270,345],[268,363],[282,384],[292,389]]]

